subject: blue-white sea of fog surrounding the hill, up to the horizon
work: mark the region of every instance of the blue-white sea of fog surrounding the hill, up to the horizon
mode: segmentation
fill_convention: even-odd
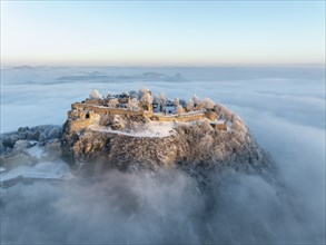
[[[226,169],[206,192],[179,169],[111,170],[1,190],[3,243],[325,243],[325,68],[2,67],[1,134],[62,125],[93,89],[211,99],[249,126],[276,182]]]

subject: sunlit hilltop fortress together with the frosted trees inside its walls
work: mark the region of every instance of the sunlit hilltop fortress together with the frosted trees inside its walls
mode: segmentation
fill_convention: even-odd
[[[126,127],[126,120],[146,124],[208,119],[211,127],[227,130],[227,124],[220,120],[221,115],[217,115],[215,106],[211,99],[201,101],[197,96],[188,102],[178,98],[171,101],[165,94],[152,95],[147,88],[117,95],[108,94],[105,97],[93,90],[88,99],[71,105],[67,127],[70,131],[79,131],[91,125],[120,130]]]

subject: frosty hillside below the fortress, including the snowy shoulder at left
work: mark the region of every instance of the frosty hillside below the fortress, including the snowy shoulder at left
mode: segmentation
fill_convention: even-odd
[[[180,167],[189,171],[210,168],[273,171],[273,159],[259,147],[245,122],[220,105],[215,109],[228,121],[227,130],[214,127],[209,119],[175,122],[172,134],[164,137],[95,130],[92,127],[73,131],[67,124],[63,128],[22,127],[1,135],[0,167],[11,169],[21,164],[33,165],[62,157],[81,170]],[[141,130],[141,125],[147,122],[137,124],[134,130]]]

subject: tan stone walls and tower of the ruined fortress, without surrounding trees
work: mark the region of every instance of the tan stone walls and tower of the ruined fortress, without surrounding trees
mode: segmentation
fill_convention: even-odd
[[[180,105],[169,102],[169,110],[162,110],[162,104],[159,111],[154,111],[154,107],[158,108],[158,104],[152,101],[151,92],[145,91],[141,96],[129,95],[127,92],[120,95],[108,95],[105,98],[90,98],[81,102],[71,105],[68,111],[67,126],[69,130],[78,131],[92,125],[95,120],[100,120],[103,116],[120,115],[125,117],[137,117],[141,121],[196,121],[200,119],[209,119],[211,126],[221,130],[226,130],[226,124],[216,122],[218,115],[214,109],[194,108],[188,111]],[[181,107],[181,110],[177,110]],[[172,108],[172,109],[171,109]],[[184,112],[178,112],[184,111]]]

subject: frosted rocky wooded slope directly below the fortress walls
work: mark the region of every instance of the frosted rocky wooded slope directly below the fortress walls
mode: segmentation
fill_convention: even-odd
[[[177,122],[165,137],[132,136],[87,128],[63,130],[61,150],[72,166],[85,169],[117,167],[121,170],[157,167],[215,167],[244,171],[274,169],[270,157],[251,136],[245,122],[223,106],[216,108],[229,121],[219,130],[209,120]]]

